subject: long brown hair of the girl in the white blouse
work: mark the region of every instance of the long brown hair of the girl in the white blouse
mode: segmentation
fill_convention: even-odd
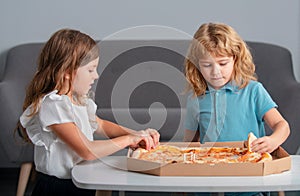
[[[97,43],[88,35],[72,29],[55,32],[44,45],[39,58],[37,71],[27,87],[23,111],[31,106],[30,116],[38,112],[42,97],[53,90],[60,91],[69,74],[69,91],[73,76],[81,65],[99,57]],[[25,129],[18,123],[19,133],[28,140]]]

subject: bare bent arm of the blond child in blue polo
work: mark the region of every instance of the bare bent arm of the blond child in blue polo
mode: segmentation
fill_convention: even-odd
[[[290,127],[276,108],[272,108],[266,112],[264,120],[272,129],[273,133],[270,136],[264,136],[254,140],[252,142],[253,151],[271,153],[287,139],[290,134]]]

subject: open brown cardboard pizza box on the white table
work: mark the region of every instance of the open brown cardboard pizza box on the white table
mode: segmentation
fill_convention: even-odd
[[[199,142],[168,142],[168,145],[179,147],[246,147],[246,142],[216,142],[200,144]],[[156,176],[264,176],[281,173],[291,169],[291,157],[279,147],[272,154],[273,160],[262,163],[217,163],[217,164],[161,164],[139,160],[131,157],[128,150],[127,169],[129,171]]]

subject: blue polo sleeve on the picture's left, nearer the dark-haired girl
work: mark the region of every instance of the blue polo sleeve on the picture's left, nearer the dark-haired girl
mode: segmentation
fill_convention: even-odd
[[[191,131],[197,131],[199,124],[199,101],[196,96],[190,94],[186,103],[186,116],[184,126],[185,129]]]

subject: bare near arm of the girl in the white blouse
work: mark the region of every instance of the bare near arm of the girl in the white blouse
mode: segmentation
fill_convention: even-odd
[[[154,145],[151,135],[144,132],[124,134],[110,140],[90,141],[74,123],[53,124],[49,127],[62,141],[85,160],[101,158],[130,145],[137,146],[142,143],[147,149],[150,149]]]

